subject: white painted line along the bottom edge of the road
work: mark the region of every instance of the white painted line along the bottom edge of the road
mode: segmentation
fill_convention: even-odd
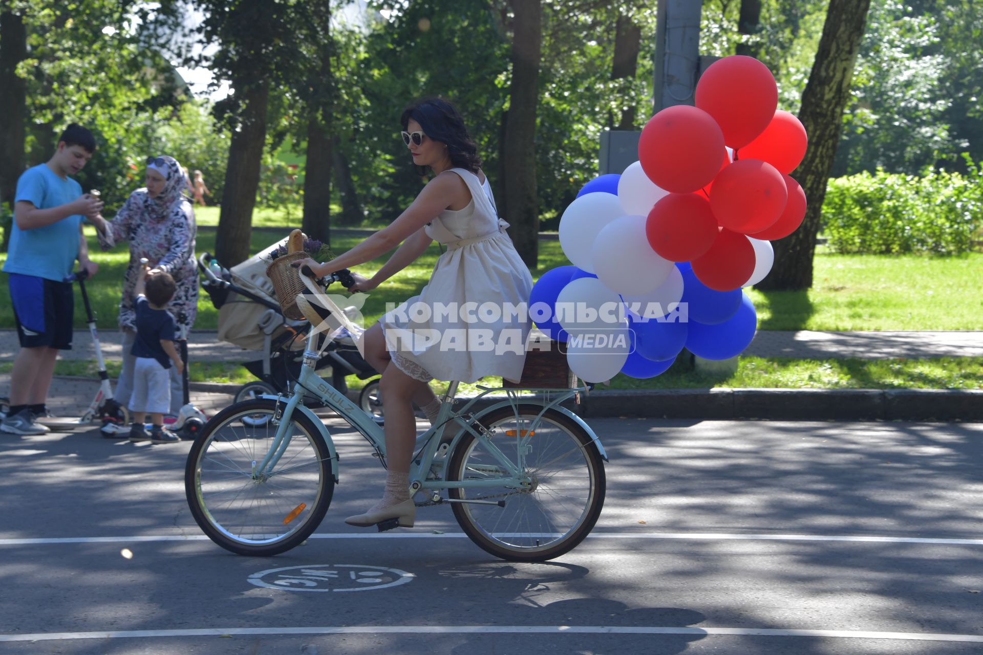
[[[62,639],[119,639],[127,637],[182,637],[255,634],[692,634],[695,636],[806,636],[846,639],[896,639],[902,641],[964,641],[983,643],[977,634],[932,632],[874,632],[867,630],[800,630],[771,628],[658,628],[649,626],[346,626],[326,628],[203,628],[164,630],[109,630],[92,632],[34,632],[0,634],[4,641],[57,641]]]

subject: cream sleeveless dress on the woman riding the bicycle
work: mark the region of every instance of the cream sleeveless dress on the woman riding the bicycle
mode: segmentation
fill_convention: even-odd
[[[471,202],[445,209],[427,224],[427,235],[447,250],[420,295],[379,319],[386,348],[396,367],[417,380],[475,382],[501,375],[518,382],[532,327],[526,306],[533,277],[505,232],[508,223],[498,218],[488,178],[483,184],[466,169],[450,170],[468,185]],[[429,338],[406,338],[410,334]]]

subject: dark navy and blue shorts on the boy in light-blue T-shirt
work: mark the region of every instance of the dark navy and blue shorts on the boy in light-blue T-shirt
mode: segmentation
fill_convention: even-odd
[[[7,280],[21,348],[72,350],[72,283],[10,273]]]

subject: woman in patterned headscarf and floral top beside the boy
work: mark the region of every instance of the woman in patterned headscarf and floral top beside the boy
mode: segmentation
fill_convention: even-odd
[[[147,157],[146,187],[130,194],[127,201],[107,221],[105,233],[99,234],[99,244],[109,249],[121,241],[130,243],[130,265],[127,267],[120,300],[119,325],[123,331],[123,369],[116,387],[116,400],[127,407],[133,380],[133,349],[137,333],[134,309],[134,290],[140,272],[140,260],[145,257],[151,268],[170,273],[177,291],[168,310],[177,322],[178,333],[190,330],[198,313],[198,271],[195,263],[195,211],[185,194],[188,178],[174,157]],[[181,409],[183,393],[181,378],[171,368],[171,414]]]

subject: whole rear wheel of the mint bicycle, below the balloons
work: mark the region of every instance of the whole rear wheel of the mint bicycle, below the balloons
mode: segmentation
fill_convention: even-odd
[[[549,409],[532,422],[542,405],[495,409],[481,417],[493,448],[517,462],[526,451],[521,474],[526,484],[448,490],[463,501],[504,501],[498,505],[454,503],[454,518],[478,546],[495,557],[544,562],[559,557],[590,533],[605,502],[605,468],[590,435],[560,411]],[[488,480],[508,475],[492,450],[465,433],[447,466],[448,480]]]

